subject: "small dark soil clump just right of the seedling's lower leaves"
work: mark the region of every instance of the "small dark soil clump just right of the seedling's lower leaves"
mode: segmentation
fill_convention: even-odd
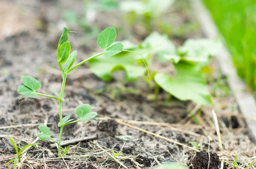
[[[99,131],[108,132],[111,135],[116,134],[117,127],[118,123],[115,120],[99,121],[97,125],[97,129]]]

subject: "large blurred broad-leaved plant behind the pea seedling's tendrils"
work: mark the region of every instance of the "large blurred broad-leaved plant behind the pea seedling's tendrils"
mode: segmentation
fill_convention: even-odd
[[[154,48],[157,45],[161,46]],[[128,48],[128,46],[124,48]],[[153,48],[153,49],[151,49]],[[151,68],[151,73],[145,81],[155,88],[156,97],[159,86],[177,99],[192,100],[202,105],[212,105],[211,96],[207,88],[207,82],[201,69],[209,64],[210,57],[221,48],[221,44],[209,39],[189,39],[183,46],[175,48],[175,45],[165,36],[157,32],[151,33],[140,45],[130,45],[129,50],[136,53],[151,49],[145,53],[145,62]],[[154,56],[159,62],[172,65],[176,74],[170,76],[161,70],[153,68]],[[173,63],[172,63],[173,62]],[[141,57],[132,56],[128,52],[119,53],[107,60],[104,58],[89,61],[90,69],[99,78],[110,81],[112,73],[117,70],[125,70],[125,80],[136,81],[145,74],[145,67],[141,66]],[[104,69],[99,69],[104,68]],[[154,80],[154,82],[152,82]]]

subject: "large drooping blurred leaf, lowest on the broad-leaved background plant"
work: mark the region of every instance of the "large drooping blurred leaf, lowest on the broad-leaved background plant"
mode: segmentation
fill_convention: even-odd
[[[186,62],[179,62],[175,68],[175,77],[157,73],[154,76],[155,82],[177,99],[192,100],[205,106],[212,105],[207,82],[200,72],[200,68]]]

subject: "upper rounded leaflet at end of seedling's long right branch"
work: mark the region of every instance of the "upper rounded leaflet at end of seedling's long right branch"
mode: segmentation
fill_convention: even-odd
[[[108,47],[112,45],[112,43],[116,40],[116,30],[115,28],[106,28],[99,34],[97,39],[97,44],[103,51],[105,51]]]

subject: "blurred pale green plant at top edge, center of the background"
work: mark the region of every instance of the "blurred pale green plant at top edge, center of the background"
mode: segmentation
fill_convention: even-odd
[[[170,34],[172,25],[163,16],[174,3],[175,0],[161,0],[161,3],[159,0],[123,0],[119,9],[124,14],[123,20],[131,27],[142,25],[146,34],[156,30]]]

